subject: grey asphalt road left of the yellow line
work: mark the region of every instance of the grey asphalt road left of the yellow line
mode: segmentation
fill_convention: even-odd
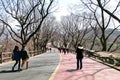
[[[14,61],[2,64],[0,65],[0,80],[49,80],[59,60],[60,56],[56,51],[48,51],[30,58],[29,68],[23,68],[22,71],[11,71]]]

